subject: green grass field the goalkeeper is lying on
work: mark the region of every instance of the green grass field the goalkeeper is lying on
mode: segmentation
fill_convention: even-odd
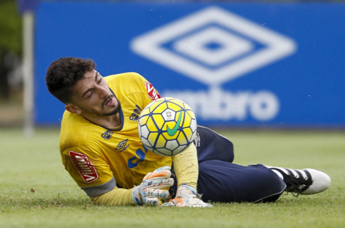
[[[331,187],[282,195],[275,203],[213,203],[213,208],[94,206],[64,170],[59,130],[0,130],[1,228],[344,228],[345,143],[341,131],[220,130],[235,163],[322,170]]]

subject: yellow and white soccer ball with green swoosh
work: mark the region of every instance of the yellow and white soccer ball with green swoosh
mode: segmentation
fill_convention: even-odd
[[[162,156],[181,153],[196,135],[196,118],[190,106],[176,98],[159,98],[148,104],[138,119],[141,142]]]

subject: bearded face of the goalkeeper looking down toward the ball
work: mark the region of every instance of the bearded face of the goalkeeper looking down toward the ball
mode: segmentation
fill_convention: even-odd
[[[109,116],[119,113],[119,101],[110,91],[104,78],[96,71],[87,71],[72,88],[72,102],[79,114]]]

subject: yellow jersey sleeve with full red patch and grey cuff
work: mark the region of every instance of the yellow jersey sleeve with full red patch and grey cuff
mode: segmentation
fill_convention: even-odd
[[[102,195],[116,187],[109,165],[88,147],[71,147],[62,153],[65,169],[89,197]]]

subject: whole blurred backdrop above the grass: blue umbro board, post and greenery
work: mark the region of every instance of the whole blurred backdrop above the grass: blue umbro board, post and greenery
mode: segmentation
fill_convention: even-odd
[[[199,124],[343,130],[343,0],[1,0],[0,127],[58,127],[50,63],[135,71]]]

